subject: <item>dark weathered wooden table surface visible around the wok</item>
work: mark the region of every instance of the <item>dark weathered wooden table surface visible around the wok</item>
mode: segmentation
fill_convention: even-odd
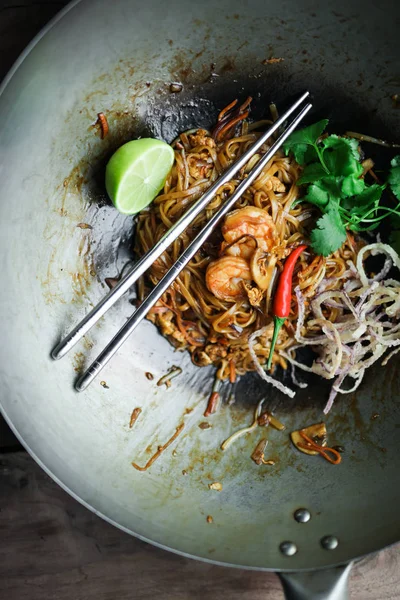
[[[0,80],[64,4],[0,1]],[[274,574],[185,559],[112,527],[68,496],[28,454],[15,451],[16,441],[4,423],[0,436],[1,599],[283,598]],[[354,567],[352,600],[400,599],[399,548],[386,549]]]

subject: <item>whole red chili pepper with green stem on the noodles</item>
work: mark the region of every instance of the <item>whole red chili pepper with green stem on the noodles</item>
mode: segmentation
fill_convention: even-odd
[[[278,335],[282,325],[284,324],[284,322],[290,314],[290,302],[292,299],[292,278],[294,267],[300,254],[306,248],[307,246],[303,244],[293,250],[293,252],[286,259],[283,271],[279,277],[278,286],[276,288],[274,302],[272,306],[274,312],[274,334],[272,336],[267,369],[271,368],[272,356],[274,354],[276,340],[278,339]]]

